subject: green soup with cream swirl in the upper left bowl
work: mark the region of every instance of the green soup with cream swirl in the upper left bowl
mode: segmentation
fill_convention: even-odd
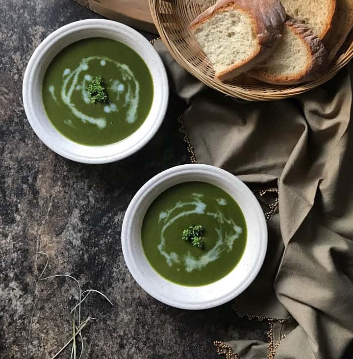
[[[107,94],[91,104],[87,86],[101,76]],[[43,103],[54,127],[72,141],[91,146],[118,142],[148,116],[151,73],[128,46],[105,38],[77,41],[60,51],[43,80]]]

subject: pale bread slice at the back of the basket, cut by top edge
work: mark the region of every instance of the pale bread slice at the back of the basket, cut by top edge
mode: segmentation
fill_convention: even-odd
[[[328,35],[336,0],[281,0],[281,2],[289,16],[311,27],[320,39]]]

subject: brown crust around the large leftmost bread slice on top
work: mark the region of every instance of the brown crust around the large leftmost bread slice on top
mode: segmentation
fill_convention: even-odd
[[[222,11],[242,11],[249,15],[258,42],[257,49],[248,59],[216,74],[216,77],[223,81],[252,69],[275,50],[282,37],[286,15],[279,0],[218,0],[190,24],[191,31],[194,32],[209,18]]]

